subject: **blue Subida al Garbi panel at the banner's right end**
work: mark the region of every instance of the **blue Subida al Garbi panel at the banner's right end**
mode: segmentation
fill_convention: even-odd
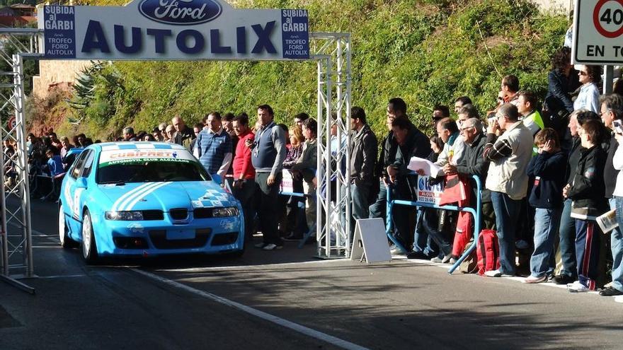
[[[283,58],[309,58],[307,10],[281,10]]]

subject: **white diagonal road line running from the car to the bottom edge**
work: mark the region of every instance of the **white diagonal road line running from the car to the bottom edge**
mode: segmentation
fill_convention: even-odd
[[[230,301],[229,299],[223,298],[221,296],[217,296],[215,294],[212,293],[207,293],[205,291],[200,291],[198,289],[195,289],[193,287],[190,286],[186,286],[185,284],[181,284],[179,282],[176,281],[172,281],[171,279],[165,279],[164,277],[158,276],[156,274],[152,274],[150,272],[144,272],[142,270],[139,269],[132,269],[132,271],[137,272],[138,274],[142,274],[143,276],[146,276],[150,279],[154,279],[156,281],[160,281],[164,284],[168,284],[169,286],[173,286],[176,288],[180,288],[183,289],[184,291],[188,291],[190,293],[193,293],[195,295],[198,296],[202,296],[203,298],[207,298],[210,299],[211,301],[215,301],[217,303],[223,304],[223,305],[227,305],[229,307],[232,308],[236,308],[238,310],[241,310],[245,313],[248,313],[250,315],[256,316],[256,317],[260,317],[263,320],[267,320],[269,322],[273,322],[277,325],[280,325],[282,327],[286,327],[289,329],[294,330],[295,332],[299,332],[301,334],[307,335],[308,337],[312,337],[315,339],[319,339],[323,342],[327,342],[329,344],[333,344],[335,346],[339,346],[343,349],[352,349],[352,350],[366,350],[367,348],[357,345],[357,344],[353,344],[351,342],[347,342],[343,339],[339,339],[337,337],[333,337],[331,335],[328,335],[326,333],[323,332],[319,332],[315,329],[311,329],[302,325],[298,325],[295,322],[290,322],[288,320],[284,320],[280,317],[277,317],[275,315],[270,315],[269,313],[265,313],[263,311],[260,310],[256,310],[254,308],[248,307],[246,305],[242,305],[241,303],[236,303],[235,301]]]

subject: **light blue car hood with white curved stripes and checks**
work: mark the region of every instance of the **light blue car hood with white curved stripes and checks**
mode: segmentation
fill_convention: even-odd
[[[237,206],[236,199],[212,181],[140,182],[99,185],[113,211]]]

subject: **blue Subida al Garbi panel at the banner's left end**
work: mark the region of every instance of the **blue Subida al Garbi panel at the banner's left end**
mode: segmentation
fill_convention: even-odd
[[[76,58],[74,6],[45,6],[43,10],[45,56]]]

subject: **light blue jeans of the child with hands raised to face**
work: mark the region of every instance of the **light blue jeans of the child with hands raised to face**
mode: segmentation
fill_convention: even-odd
[[[542,209],[535,212],[535,252],[530,258],[530,276],[542,277],[554,272],[551,255],[554,251],[554,239],[560,223],[562,208]]]

